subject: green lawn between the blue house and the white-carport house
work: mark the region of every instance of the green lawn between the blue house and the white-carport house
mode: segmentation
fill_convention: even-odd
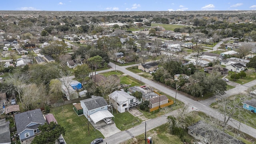
[[[52,108],[51,113],[54,115],[58,124],[66,129],[66,134],[63,137],[67,144],[90,144],[95,138],[104,138],[90,123],[89,134],[88,120],[85,116],[77,116],[72,104]]]

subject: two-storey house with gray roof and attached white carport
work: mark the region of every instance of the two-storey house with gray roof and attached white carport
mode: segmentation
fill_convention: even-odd
[[[101,96],[80,100],[80,104],[83,108],[84,116],[88,119],[88,121],[94,122],[94,124],[103,120],[104,118],[114,117],[108,111],[108,104],[106,100]]]

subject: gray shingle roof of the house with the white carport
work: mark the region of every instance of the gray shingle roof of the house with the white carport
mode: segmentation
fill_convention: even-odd
[[[106,100],[101,96],[87,98],[85,100],[80,100],[80,102],[83,102],[88,110],[94,110],[96,108],[108,105]]]

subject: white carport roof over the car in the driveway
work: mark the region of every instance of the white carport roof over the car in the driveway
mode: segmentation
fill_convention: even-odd
[[[94,124],[96,124],[96,122],[99,122],[100,120],[103,120],[104,118],[110,117],[114,116],[108,110],[100,110],[90,115],[90,119],[94,122]]]

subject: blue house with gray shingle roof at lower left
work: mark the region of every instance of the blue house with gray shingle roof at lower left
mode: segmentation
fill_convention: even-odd
[[[41,109],[15,114],[14,120],[21,144],[31,142],[31,138],[40,132],[38,127],[46,122]]]

